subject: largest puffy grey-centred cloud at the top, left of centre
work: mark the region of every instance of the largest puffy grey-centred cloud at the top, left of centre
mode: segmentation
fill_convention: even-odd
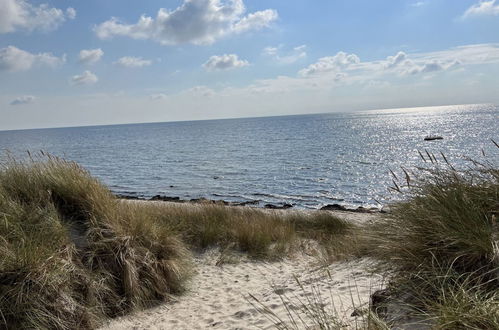
[[[126,36],[163,45],[204,45],[226,35],[268,27],[278,16],[267,9],[242,17],[245,10],[242,0],[184,0],[174,10],[161,8],[155,18],[142,15],[137,23],[126,24],[112,17],[94,31],[101,39]]]

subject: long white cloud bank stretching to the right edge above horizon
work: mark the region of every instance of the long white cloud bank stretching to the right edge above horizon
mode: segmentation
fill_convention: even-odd
[[[275,54],[277,47],[266,48],[267,54]],[[465,70],[473,65],[499,64],[499,44],[475,44],[454,47],[429,53],[398,52],[382,60],[362,62],[355,54],[339,52],[320,58],[316,63],[298,71],[298,78],[278,77],[265,81],[265,88],[255,90],[308,90],[332,88],[370,80],[391,81],[397,78],[425,78],[440,72]]]

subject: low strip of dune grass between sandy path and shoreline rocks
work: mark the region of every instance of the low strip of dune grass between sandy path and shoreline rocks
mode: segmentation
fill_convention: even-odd
[[[220,205],[172,205],[123,201],[123,209],[147,214],[178,233],[194,251],[219,247],[254,259],[276,260],[304,239],[321,242],[331,258],[345,258],[356,246],[356,227],[329,212],[274,212]],[[334,237],[334,239],[330,239]]]

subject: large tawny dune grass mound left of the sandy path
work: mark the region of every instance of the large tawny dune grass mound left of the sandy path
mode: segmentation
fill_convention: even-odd
[[[0,171],[0,324],[93,328],[182,291],[185,244],[125,213],[78,165],[49,158]]]

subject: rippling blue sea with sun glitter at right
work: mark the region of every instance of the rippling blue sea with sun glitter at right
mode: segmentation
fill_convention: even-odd
[[[428,134],[444,139],[424,141]],[[425,165],[418,150],[497,164],[499,108],[458,105],[267,118],[0,131],[16,157],[74,160],[118,194],[182,199],[379,206],[390,169]],[[0,156],[5,160],[5,153]]]

